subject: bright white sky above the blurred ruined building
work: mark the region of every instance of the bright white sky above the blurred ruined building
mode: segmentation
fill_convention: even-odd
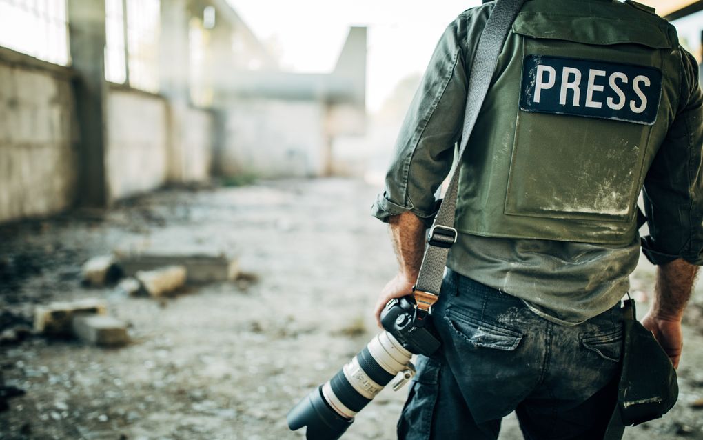
[[[228,0],[283,68],[329,72],[349,26],[368,26],[366,98],[377,111],[402,78],[421,73],[444,28],[480,0]]]

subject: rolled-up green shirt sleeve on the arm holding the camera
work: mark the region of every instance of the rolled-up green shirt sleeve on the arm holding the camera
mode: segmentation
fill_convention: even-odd
[[[387,222],[411,211],[431,225],[439,204],[434,193],[449,174],[463,126],[466,105],[467,26],[475,22],[466,11],[445,30],[415,92],[396,140],[385,191],[371,208]]]

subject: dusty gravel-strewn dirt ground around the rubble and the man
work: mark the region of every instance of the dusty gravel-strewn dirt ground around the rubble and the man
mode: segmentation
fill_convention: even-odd
[[[288,439],[299,398],[378,331],[370,315],[395,270],[377,188],[356,180],[287,180],[159,191],[108,211],[0,227],[0,332],[31,325],[37,304],[103,298],[131,343],[104,349],[28,335],[0,346],[7,386],[1,439]],[[209,284],[165,301],[80,286],[80,265],[112,249],[168,243],[236,254],[257,282]],[[646,262],[633,291],[652,289]],[[703,439],[703,307],[689,308],[681,394],[662,420],[626,439]],[[640,304],[640,314],[647,308]],[[407,387],[390,389],[345,439],[392,439]],[[520,439],[507,417],[502,440]]]

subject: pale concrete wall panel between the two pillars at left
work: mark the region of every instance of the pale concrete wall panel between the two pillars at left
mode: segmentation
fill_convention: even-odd
[[[167,102],[159,96],[113,87],[107,114],[105,170],[110,201],[165,184]]]

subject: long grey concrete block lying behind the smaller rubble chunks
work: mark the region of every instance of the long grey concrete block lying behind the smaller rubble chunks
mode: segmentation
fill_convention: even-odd
[[[180,265],[188,272],[188,284],[232,281],[239,273],[238,260],[224,254],[209,253],[120,253],[120,267],[127,275],[140,270],[154,270],[170,265]]]

